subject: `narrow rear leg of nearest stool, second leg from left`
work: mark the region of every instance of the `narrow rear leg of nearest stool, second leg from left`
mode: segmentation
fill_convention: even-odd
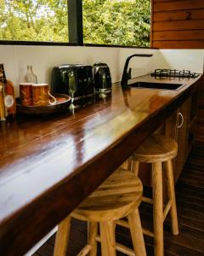
[[[95,240],[98,233],[97,222],[88,223],[88,244],[91,246],[89,256],[96,256],[97,254],[97,241]]]

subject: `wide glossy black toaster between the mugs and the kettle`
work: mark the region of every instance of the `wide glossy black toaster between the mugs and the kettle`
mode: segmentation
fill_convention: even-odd
[[[85,64],[64,64],[54,67],[51,79],[51,92],[68,94],[72,98],[94,95],[92,66]]]

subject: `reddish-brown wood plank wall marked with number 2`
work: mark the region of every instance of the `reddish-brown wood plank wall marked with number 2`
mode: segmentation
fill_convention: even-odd
[[[151,46],[204,49],[204,0],[152,0]]]

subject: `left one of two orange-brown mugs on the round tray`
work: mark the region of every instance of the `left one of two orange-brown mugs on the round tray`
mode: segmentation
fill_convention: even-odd
[[[23,106],[32,105],[32,84],[20,83],[20,102]]]

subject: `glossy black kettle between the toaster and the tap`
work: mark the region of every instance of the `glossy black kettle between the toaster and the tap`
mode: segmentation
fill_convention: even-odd
[[[96,62],[93,66],[95,90],[111,90],[111,73],[108,65]]]

